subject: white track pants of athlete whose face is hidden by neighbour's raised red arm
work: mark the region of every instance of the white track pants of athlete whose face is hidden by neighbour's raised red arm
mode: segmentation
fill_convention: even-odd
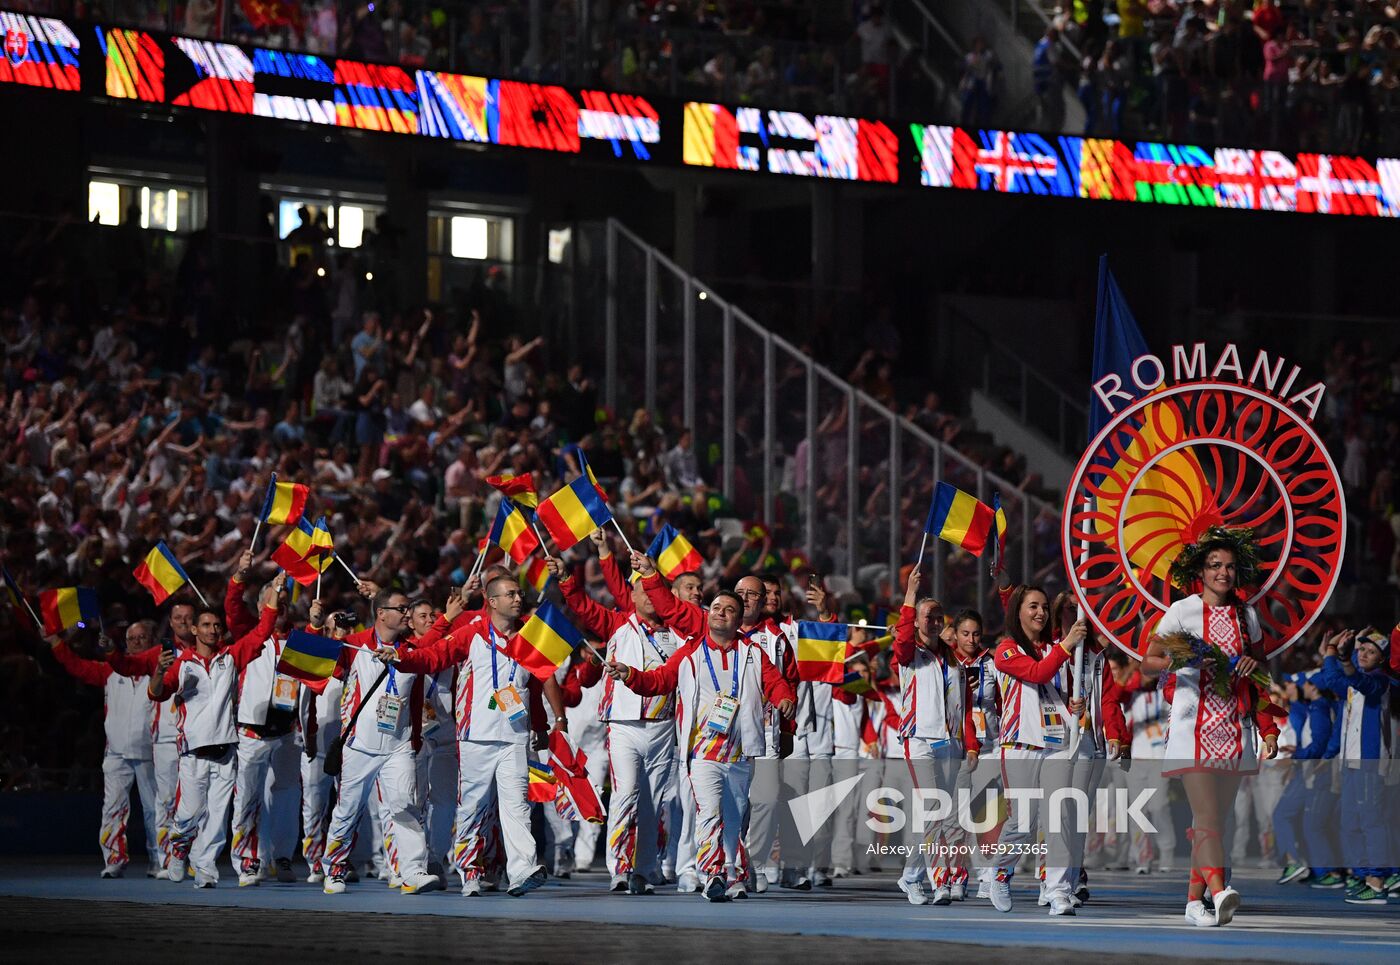
[[[301,775],[291,734],[270,740],[238,735],[238,786],[234,790],[234,868],[263,867],[291,857],[297,840]]]

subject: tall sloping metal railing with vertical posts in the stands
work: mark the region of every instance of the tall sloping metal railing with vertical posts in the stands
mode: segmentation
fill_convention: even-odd
[[[1012,580],[1063,585],[1057,507],[840,378],[619,221],[588,237],[606,276],[605,403],[689,427],[703,472],[741,515],[868,599],[888,599],[918,555],[935,485],[949,482],[986,503],[1000,493]],[[1000,626],[984,562],[930,543],[925,587],[953,606],[976,601],[988,629]]]

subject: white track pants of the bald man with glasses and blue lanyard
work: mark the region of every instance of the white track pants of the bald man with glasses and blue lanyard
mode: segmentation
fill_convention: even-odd
[[[466,878],[486,870],[486,839],[500,812],[511,884],[538,867],[529,829],[529,755],[524,741],[458,741],[456,835],[452,867]]]

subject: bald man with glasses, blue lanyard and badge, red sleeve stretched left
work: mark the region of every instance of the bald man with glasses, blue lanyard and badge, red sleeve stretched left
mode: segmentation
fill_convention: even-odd
[[[448,599],[445,623],[458,629],[441,632],[438,620],[419,647],[391,653],[391,665],[409,674],[438,674],[456,667],[456,833],[452,864],[462,878],[462,895],[482,894],[486,870],[486,836],[493,810],[498,810],[505,846],[508,891],[519,898],[547,880],[535,852],[529,828],[529,738],[545,745],[540,693],[554,713],[554,727],[564,720],[564,697],[559,682],[538,681],[505,653],[519,630],[524,597],[510,576],[486,584],[486,609],[465,623],[461,595]]]

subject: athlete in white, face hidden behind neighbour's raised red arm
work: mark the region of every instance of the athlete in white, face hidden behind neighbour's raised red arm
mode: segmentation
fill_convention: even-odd
[[[224,595],[224,615],[235,636],[252,625],[242,590],[235,576]],[[263,588],[265,599],[270,591],[273,585]],[[230,850],[239,887],[256,885],[259,873],[270,873],[274,861],[280,881],[294,880],[301,775],[293,730],[301,682],[277,672],[286,634],[274,627],[266,644],[238,676],[238,783]]]

